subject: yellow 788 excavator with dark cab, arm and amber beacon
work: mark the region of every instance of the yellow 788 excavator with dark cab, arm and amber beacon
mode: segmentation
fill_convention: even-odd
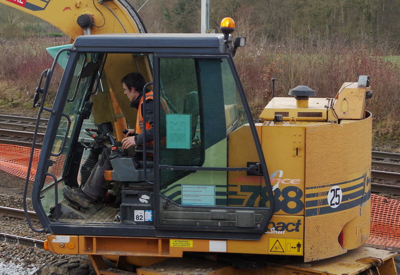
[[[363,246],[369,76],[329,98],[293,87],[254,121],[233,61],[245,37],[232,39],[231,18],[220,34],[155,34],[124,0],[0,3],[72,40],[49,49],[54,63],[33,99],[38,118],[50,116],[29,165],[43,228],[31,227],[47,233],[46,249],[71,255],[38,274],[396,274],[395,252]],[[57,64],[64,73],[47,107]],[[154,144],[136,147],[140,161],[113,157],[106,196],[81,208],[61,189],[81,188],[101,151],[135,127],[121,85],[132,71],[153,91]]]

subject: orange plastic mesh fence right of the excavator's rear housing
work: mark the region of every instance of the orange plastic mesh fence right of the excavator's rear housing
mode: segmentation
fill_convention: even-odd
[[[371,194],[371,229],[367,243],[400,247],[400,201]]]

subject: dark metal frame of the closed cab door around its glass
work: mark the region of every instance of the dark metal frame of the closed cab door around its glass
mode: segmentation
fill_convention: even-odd
[[[181,205],[177,204],[171,199],[161,194],[160,190],[160,170],[161,169],[180,169],[180,170],[193,170],[193,171],[249,171],[254,169],[254,166],[247,167],[200,167],[200,166],[172,166],[172,165],[161,165],[160,164],[160,121],[157,119],[160,114],[160,58],[223,58],[226,59],[232,76],[234,78],[234,82],[236,88],[240,94],[241,103],[243,104],[243,108],[246,114],[246,117],[249,121],[249,127],[251,129],[251,134],[254,140],[254,145],[256,147],[256,151],[259,157],[259,166],[260,176],[264,179],[265,182],[265,194],[266,197],[269,197],[269,207],[238,207],[238,206],[197,206],[197,205]],[[267,224],[273,214],[273,192],[269,181],[269,175],[267,172],[265,159],[262,153],[260,141],[256,132],[255,124],[251,118],[251,113],[243,92],[242,85],[237,76],[237,71],[233,65],[232,56],[230,54],[207,54],[207,55],[197,55],[197,54],[154,54],[154,72],[153,72],[153,83],[154,83],[154,133],[155,133],[155,150],[154,150],[154,220],[155,227],[158,236],[169,236],[172,234],[176,234],[175,230],[181,230],[180,233],[182,236],[193,236],[201,234],[208,234],[210,237],[214,238],[245,238],[245,239],[258,239],[261,234],[266,231]],[[252,167],[252,168],[250,168]],[[261,194],[260,194],[261,195]],[[166,211],[171,211],[168,214],[173,213],[174,211],[185,212],[183,216],[190,215],[190,212],[197,215],[200,212],[207,212],[206,215],[216,217],[214,220],[210,220],[209,222],[204,221],[203,223],[194,222],[193,224],[167,224],[162,220],[162,214]],[[236,215],[236,220],[239,218],[247,219],[249,215],[251,217],[257,216],[261,214],[263,218],[258,223],[254,223],[254,226],[244,225],[234,226],[232,222],[224,222],[223,216]],[[218,219],[218,216],[222,216],[222,219]],[[235,224],[235,222],[233,222]],[[222,224],[222,225],[221,225]],[[194,232],[196,231],[196,232]]]

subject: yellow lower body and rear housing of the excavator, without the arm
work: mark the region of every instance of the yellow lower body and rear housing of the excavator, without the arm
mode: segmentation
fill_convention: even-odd
[[[49,249],[88,254],[100,267],[99,255],[143,266],[137,269],[142,275],[172,274],[176,264],[182,269],[185,264],[174,258],[184,252],[297,256],[290,264],[282,261],[286,257],[265,258],[256,270],[197,262],[196,266],[208,264],[203,274],[359,274],[368,268],[394,274],[392,252],[361,246],[369,236],[372,117],[363,110],[365,118],[327,121],[332,115],[327,104],[335,99],[310,101],[308,108],[297,109],[294,98],[273,98],[260,115],[263,121],[256,123],[275,201],[274,214],[259,240],[48,235]],[[276,114],[288,115],[274,121]],[[255,149],[241,143],[249,131],[244,125],[230,135],[230,164],[256,160]],[[261,178],[228,172],[228,192],[234,194],[230,205],[262,204],[262,195],[251,197],[245,191],[261,187]]]

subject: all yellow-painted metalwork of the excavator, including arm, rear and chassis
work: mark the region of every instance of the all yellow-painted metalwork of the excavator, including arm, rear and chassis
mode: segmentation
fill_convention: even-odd
[[[92,34],[141,31],[132,14],[116,0],[101,4],[97,0],[0,3],[46,20],[72,40],[84,32],[76,24],[76,18],[82,14],[89,14],[93,20]],[[132,57],[133,62],[125,62]],[[151,81],[148,59],[144,55],[109,53],[104,71],[103,90],[90,98],[96,106],[95,122],[112,122],[117,129],[134,127],[136,113],[129,109],[120,77],[140,71],[147,82]],[[92,236],[71,232],[47,235],[46,246],[58,254],[89,255],[97,274],[119,274],[105,270],[102,256],[116,262],[117,267],[126,263],[143,266],[137,269],[141,275],[175,274],[173,270],[183,274],[184,263],[173,258],[182,257],[184,252],[268,255],[263,258],[263,267],[255,270],[186,261],[187,274],[359,274],[367,269],[395,274],[392,252],[361,246],[368,238],[370,212],[372,118],[364,107],[368,91],[369,85],[348,82],[334,98],[275,97],[265,106],[259,116],[261,122],[255,126],[270,176],[274,213],[258,240]],[[234,108],[232,105],[225,112],[234,112]],[[226,121],[226,125],[230,122]],[[230,166],[247,167],[243,159],[259,161],[254,146],[248,149],[242,141],[242,136],[248,134],[250,127],[243,125],[222,144],[229,147]],[[226,174],[228,206],[265,204],[267,199],[262,193],[252,197],[253,192],[246,191],[262,188],[262,176],[249,176],[245,171]]]

